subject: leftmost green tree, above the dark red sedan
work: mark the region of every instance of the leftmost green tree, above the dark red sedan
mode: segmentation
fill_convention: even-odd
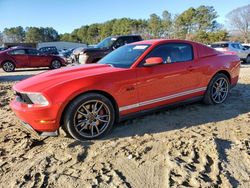
[[[5,28],[3,31],[4,42],[23,42],[25,38],[25,31],[23,27]]]

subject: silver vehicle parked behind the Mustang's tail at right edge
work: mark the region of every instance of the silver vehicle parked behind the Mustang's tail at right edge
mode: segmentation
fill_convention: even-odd
[[[244,48],[239,42],[217,42],[211,47],[226,54],[236,54],[243,62],[250,63],[250,50]]]

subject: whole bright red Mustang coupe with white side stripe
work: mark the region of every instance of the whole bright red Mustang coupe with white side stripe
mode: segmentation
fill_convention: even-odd
[[[184,40],[149,40],[118,48],[97,64],[48,71],[17,83],[11,107],[26,126],[95,139],[115,122],[175,103],[223,103],[240,60]]]

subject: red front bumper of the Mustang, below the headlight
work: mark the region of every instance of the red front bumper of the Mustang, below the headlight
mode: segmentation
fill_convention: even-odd
[[[44,132],[55,133],[59,128],[60,120],[57,118],[59,104],[33,107],[14,99],[10,106],[20,120],[40,135]]]

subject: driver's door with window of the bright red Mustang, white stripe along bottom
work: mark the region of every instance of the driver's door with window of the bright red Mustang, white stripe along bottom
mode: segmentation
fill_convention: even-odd
[[[161,57],[163,64],[145,67],[149,57]],[[157,46],[137,68],[141,109],[186,99],[199,91],[200,73],[196,69],[193,46],[167,43]],[[204,89],[204,88],[203,88]]]

